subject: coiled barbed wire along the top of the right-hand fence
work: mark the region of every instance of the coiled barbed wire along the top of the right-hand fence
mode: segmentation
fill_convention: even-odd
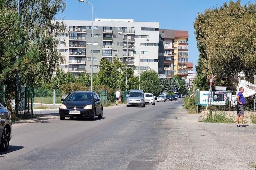
[[[227,71],[223,69],[218,69],[214,71],[214,75],[222,78],[238,78],[238,73],[244,71],[245,78],[254,78],[256,75],[256,70],[235,70],[235,71]]]

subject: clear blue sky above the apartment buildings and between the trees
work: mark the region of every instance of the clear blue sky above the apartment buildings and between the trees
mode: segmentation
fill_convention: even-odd
[[[188,61],[197,65],[199,53],[196,46],[193,22],[207,8],[220,7],[225,0],[88,0],[93,4],[94,18],[128,18],[134,21],[159,22],[159,29],[188,31]],[[249,1],[242,0],[242,5]],[[66,0],[66,10],[56,19],[92,20],[90,4]]]

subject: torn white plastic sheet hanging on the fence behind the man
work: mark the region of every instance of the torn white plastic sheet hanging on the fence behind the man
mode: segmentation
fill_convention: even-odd
[[[241,79],[241,78],[244,78],[244,79]],[[244,92],[243,92],[244,97],[256,95],[256,85],[245,80],[244,71],[241,71],[238,74],[237,80],[239,81],[239,83],[236,87],[236,95],[238,94],[240,87],[244,88]]]

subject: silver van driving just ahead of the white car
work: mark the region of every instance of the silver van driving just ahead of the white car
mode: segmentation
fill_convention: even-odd
[[[127,97],[126,107],[142,106],[145,107],[145,95],[143,90],[131,90]]]

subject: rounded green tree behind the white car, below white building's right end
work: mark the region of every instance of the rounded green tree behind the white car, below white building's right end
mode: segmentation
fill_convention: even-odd
[[[154,70],[142,71],[140,75],[140,89],[146,93],[158,96],[161,92],[161,78]]]

